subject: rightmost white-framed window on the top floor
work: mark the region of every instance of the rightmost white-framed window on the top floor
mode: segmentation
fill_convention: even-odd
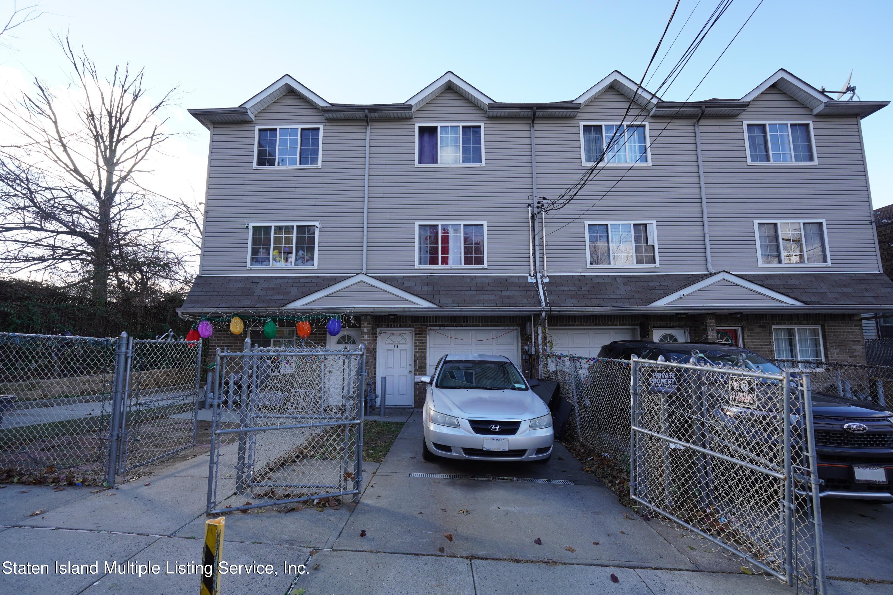
[[[815,164],[812,122],[745,122],[747,163]]]

